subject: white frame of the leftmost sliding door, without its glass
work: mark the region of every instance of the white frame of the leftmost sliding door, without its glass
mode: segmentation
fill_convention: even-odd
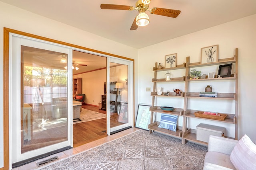
[[[72,131],[72,49],[64,45],[34,39],[23,35],[10,33],[9,36],[9,165],[20,162],[28,158],[42,155],[52,150],[61,149],[64,147],[73,147],[73,131]],[[20,46],[25,45],[39,49],[46,49],[50,51],[58,51],[68,54],[68,140],[43,147],[40,149],[21,153],[21,133],[20,133]],[[18,115],[18,116],[17,116]]]

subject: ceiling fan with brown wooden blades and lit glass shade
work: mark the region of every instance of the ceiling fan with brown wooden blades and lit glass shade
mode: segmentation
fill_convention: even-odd
[[[176,18],[180,14],[180,10],[171,10],[166,8],[151,8],[149,9],[150,0],[138,0],[136,2],[136,7],[127,5],[115,5],[115,4],[100,4],[100,8],[103,10],[137,10],[139,12],[138,16],[135,17],[130,30],[136,30],[138,26],[146,26],[149,23],[149,17],[146,11],[150,14],[167,16]]]

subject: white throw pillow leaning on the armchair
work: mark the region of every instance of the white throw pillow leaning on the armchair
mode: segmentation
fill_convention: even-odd
[[[230,160],[238,170],[256,170],[256,145],[244,135],[230,154]]]

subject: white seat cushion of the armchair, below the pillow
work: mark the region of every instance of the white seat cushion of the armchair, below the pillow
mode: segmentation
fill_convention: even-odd
[[[228,154],[209,151],[204,158],[204,170],[235,170]]]

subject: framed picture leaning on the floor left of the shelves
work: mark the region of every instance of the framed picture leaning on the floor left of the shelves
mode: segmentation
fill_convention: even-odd
[[[151,111],[149,111],[150,107],[151,106],[147,105],[139,105],[135,127],[149,131],[148,124],[150,123],[151,116]]]

